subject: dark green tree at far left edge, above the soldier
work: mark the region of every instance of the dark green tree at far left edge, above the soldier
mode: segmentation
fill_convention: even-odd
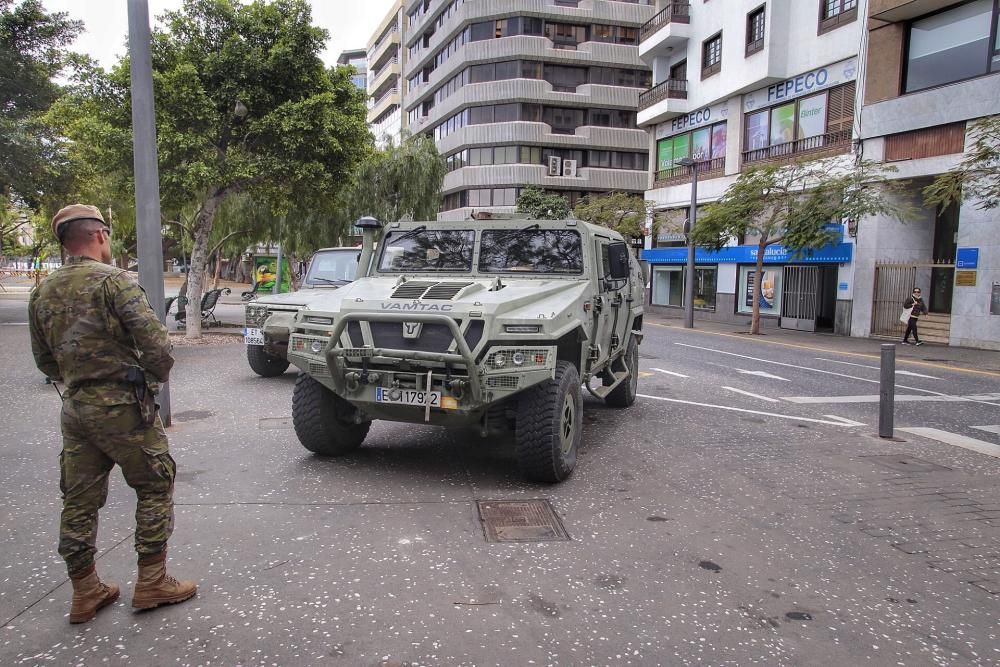
[[[82,24],[47,14],[40,0],[0,0],[0,196],[36,207],[62,177],[59,142],[41,122],[60,90],[52,78]]]

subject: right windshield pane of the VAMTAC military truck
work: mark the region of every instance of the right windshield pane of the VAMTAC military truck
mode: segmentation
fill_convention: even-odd
[[[490,229],[479,248],[482,273],[583,273],[580,233],[563,229]]]

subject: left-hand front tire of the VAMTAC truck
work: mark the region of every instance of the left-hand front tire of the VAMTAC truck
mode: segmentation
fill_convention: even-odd
[[[305,373],[295,379],[292,424],[302,446],[320,456],[341,456],[361,446],[371,421],[355,423],[357,408]]]

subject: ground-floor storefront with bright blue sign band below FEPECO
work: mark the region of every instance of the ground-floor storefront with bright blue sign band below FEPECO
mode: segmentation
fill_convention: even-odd
[[[753,312],[757,246],[732,246],[695,253],[694,309],[697,317],[743,322]],[[840,301],[850,298],[854,244],[833,243],[794,253],[767,248],[759,295],[761,315],[785,328],[835,330]],[[651,269],[649,304],[684,308],[687,248],[644,250]]]

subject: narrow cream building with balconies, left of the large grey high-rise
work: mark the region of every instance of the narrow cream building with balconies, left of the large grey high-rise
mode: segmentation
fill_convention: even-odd
[[[406,127],[402,111],[404,16],[403,0],[396,0],[368,42],[368,126],[380,145],[387,139],[398,144]]]

